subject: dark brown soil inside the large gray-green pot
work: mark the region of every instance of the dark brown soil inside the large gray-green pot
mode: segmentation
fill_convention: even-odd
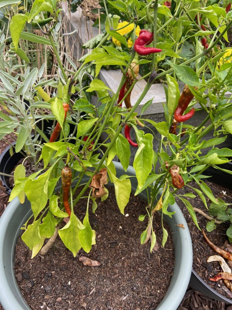
[[[96,214],[89,212],[96,242],[89,254],[81,250],[76,257],[58,237],[45,257],[31,259],[31,251],[18,240],[15,254],[15,276],[20,290],[32,310],[40,309],[155,309],[164,297],[174,265],[174,251],[169,231],[168,242],[161,245],[160,215],[154,218],[158,227],[157,248],[150,254],[150,242],[140,244],[146,222],[146,202],[131,195],[123,216],[118,210],[114,189],[105,202],[99,202]],[[75,213],[82,220],[87,199],[82,199]],[[167,228],[167,227],[166,227]],[[97,260],[101,266],[84,266],[80,256]]]

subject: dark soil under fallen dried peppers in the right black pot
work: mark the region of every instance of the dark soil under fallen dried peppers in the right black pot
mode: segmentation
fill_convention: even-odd
[[[194,187],[196,187],[195,184],[193,184]],[[213,194],[215,197],[219,197],[222,200],[232,203],[232,192],[228,189],[224,189],[220,187],[219,185],[209,183],[208,186],[211,188]],[[182,190],[182,193],[189,192],[188,188]],[[181,194],[182,194],[181,193]],[[194,199],[187,198],[193,207],[199,208],[203,210],[205,213],[208,214],[208,210],[203,205],[200,197],[196,197]],[[202,232],[195,226],[193,221],[191,220],[191,217],[185,208],[183,206],[183,203],[178,200],[178,204],[180,208],[183,211],[183,214],[186,218],[186,221],[188,223],[189,229],[191,231],[191,237],[192,237],[192,244],[193,244],[193,268],[198,273],[198,275],[213,289],[217,290],[218,293],[224,295],[225,297],[232,299],[232,293],[226,288],[223,281],[217,281],[213,282],[208,280],[209,277],[214,277],[217,273],[221,272],[221,267],[218,262],[213,263],[207,263],[206,259],[211,255],[216,255],[215,253],[205,242],[204,237],[202,235]],[[209,203],[208,203],[209,207]],[[206,219],[203,215],[200,215],[196,212],[197,220],[199,227],[201,229],[204,229],[206,232],[207,237],[210,241],[212,241],[215,245],[219,246],[220,248],[223,248],[228,251],[226,248],[226,245],[229,246],[229,241],[226,236],[226,230],[229,227],[229,223],[223,223],[223,224],[217,224],[217,229],[213,230],[212,232],[206,231],[206,224],[208,222],[208,219]],[[232,262],[227,261],[226,263],[232,267]]]

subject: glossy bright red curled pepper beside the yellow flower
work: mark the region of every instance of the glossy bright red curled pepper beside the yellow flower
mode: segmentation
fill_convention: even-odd
[[[162,50],[154,47],[145,47],[145,45],[151,44],[153,41],[153,33],[147,30],[141,30],[139,37],[135,40],[134,49],[139,55],[150,55],[153,53],[159,53]]]

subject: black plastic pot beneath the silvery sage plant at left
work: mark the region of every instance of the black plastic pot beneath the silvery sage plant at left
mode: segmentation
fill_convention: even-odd
[[[2,152],[0,156],[0,172],[11,174],[11,172],[14,170],[14,167],[17,165],[20,159],[24,158],[22,153],[13,153],[11,156],[10,154],[10,146],[5,149],[4,152]],[[12,187],[9,183],[10,177],[5,175],[0,175],[0,180],[2,181],[2,185],[5,186],[6,192],[8,194],[11,193]]]

